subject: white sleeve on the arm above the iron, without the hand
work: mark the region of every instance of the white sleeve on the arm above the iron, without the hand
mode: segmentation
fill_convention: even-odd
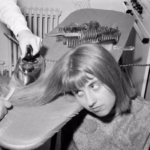
[[[17,0],[0,0],[0,20],[10,28],[15,35],[22,30],[29,30]]]

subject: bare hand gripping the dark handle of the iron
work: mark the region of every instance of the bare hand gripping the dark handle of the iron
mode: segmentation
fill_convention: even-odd
[[[34,35],[32,32],[30,32],[28,30],[20,31],[18,33],[17,39],[19,41],[19,45],[21,48],[21,58],[25,57],[27,45],[32,46],[33,55],[35,55],[39,52],[40,46],[42,43],[42,39],[40,37]]]

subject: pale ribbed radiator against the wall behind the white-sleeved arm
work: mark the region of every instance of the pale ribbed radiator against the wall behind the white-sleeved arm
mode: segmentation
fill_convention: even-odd
[[[21,8],[23,15],[27,20],[29,29],[35,35],[43,38],[44,35],[50,32],[59,24],[59,17],[61,11],[59,9],[48,8]],[[13,36],[13,33],[10,31]],[[20,56],[19,47],[13,42],[9,41],[9,76],[11,76],[16,66],[18,57]]]

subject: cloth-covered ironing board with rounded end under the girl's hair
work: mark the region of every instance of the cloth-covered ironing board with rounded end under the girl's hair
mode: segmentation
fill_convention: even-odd
[[[64,27],[71,22],[82,24],[91,20],[104,26],[118,26],[122,33],[119,46],[125,46],[134,23],[132,16],[121,12],[82,9],[71,13],[58,27]],[[57,33],[58,27],[51,33]],[[70,49],[62,42],[56,42],[55,37],[44,38],[41,52],[45,54],[46,70],[51,69],[55,61],[68,50]],[[118,61],[122,50],[111,53]],[[81,109],[75,98],[69,95],[39,107],[14,107],[0,122],[0,145],[15,150],[35,149],[58,132]]]

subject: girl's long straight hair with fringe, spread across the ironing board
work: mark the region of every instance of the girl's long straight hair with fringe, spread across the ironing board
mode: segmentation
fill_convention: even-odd
[[[72,92],[88,81],[86,73],[99,79],[116,96],[116,106],[125,112],[136,96],[113,56],[99,44],[84,44],[64,54],[39,80],[17,89],[10,101],[16,106],[39,106]]]

